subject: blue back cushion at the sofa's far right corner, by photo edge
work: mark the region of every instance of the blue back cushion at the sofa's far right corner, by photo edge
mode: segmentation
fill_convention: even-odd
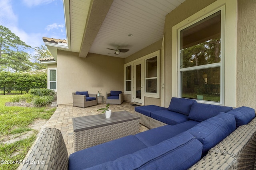
[[[255,117],[255,110],[246,106],[232,109],[227,113],[235,116],[236,127],[248,124]]]

